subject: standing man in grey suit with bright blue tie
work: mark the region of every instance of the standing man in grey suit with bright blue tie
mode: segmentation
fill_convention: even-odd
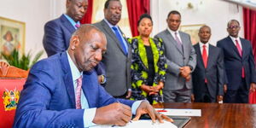
[[[107,84],[105,89],[117,98],[131,96],[131,55],[130,46],[124,33],[117,26],[121,19],[122,4],[119,0],[107,0],[104,6],[105,19],[97,26],[107,37],[107,52],[102,62],[106,66]]]

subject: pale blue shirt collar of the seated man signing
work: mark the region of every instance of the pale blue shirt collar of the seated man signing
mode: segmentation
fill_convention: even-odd
[[[67,52],[67,51],[66,51]],[[69,63],[69,66],[71,68],[71,73],[72,73],[72,78],[73,78],[73,81],[79,79],[81,76],[83,76],[83,72],[79,72],[79,69],[78,67],[76,67],[76,65],[73,63],[70,55],[68,54],[67,52],[67,60],[68,60],[68,63]]]

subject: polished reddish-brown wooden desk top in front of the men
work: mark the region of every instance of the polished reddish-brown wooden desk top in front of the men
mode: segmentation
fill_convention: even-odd
[[[185,128],[256,128],[256,105],[240,103],[164,103],[154,108],[201,109]]]

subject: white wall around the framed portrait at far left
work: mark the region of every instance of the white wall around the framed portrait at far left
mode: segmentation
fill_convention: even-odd
[[[0,0],[0,16],[26,23],[26,53],[44,50],[44,24],[65,13],[66,0]],[[47,57],[46,53],[42,58]]]

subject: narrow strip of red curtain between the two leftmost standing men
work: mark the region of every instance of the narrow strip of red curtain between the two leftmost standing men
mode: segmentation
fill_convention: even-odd
[[[92,7],[93,7],[93,0],[88,0],[88,8],[82,20],[80,20],[81,24],[90,24],[91,17],[92,17]]]

